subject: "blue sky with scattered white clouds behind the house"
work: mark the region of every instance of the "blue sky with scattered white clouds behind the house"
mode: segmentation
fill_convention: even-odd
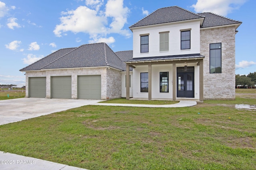
[[[0,0],[0,84],[25,83],[19,70],[58,49],[106,42],[132,50],[129,27],[168,6],[242,21],[236,74],[256,71],[255,0]]]

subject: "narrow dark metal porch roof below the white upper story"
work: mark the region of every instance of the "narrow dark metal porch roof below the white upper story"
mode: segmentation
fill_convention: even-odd
[[[191,55],[170,55],[170,56],[159,56],[159,57],[143,57],[133,58],[124,63],[144,63],[144,62],[158,62],[158,61],[180,61],[180,60],[196,60],[203,59],[204,56],[200,54]]]

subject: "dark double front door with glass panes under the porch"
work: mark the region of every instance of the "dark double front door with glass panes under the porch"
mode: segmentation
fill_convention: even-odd
[[[194,98],[194,67],[177,67],[177,98]]]

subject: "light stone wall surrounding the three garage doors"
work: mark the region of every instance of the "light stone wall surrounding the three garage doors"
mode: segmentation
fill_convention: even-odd
[[[46,98],[51,97],[51,76],[71,76],[72,77],[72,99],[77,99],[77,76],[80,75],[101,75],[101,99],[121,98],[121,72],[115,69],[100,68],[69,68],[44,71],[26,72],[26,97],[28,97],[28,78],[46,77]]]

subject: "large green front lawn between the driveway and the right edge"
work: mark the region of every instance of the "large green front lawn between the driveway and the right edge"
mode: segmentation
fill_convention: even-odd
[[[256,169],[256,93],[193,107],[83,106],[0,126],[0,150],[90,170]],[[200,113],[200,114],[199,114]]]

